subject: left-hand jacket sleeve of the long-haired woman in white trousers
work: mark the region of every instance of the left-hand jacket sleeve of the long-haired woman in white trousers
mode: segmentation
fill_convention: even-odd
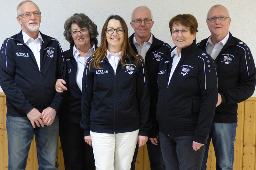
[[[84,136],[90,135],[90,115],[91,115],[91,103],[93,97],[93,83],[94,83],[94,72],[89,70],[89,61],[86,63],[84,68],[84,74],[82,79],[82,102],[81,102],[81,109],[82,109],[82,119],[80,122],[81,128],[84,130]]]

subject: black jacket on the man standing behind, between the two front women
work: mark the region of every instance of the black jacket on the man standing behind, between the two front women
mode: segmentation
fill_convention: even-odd
[[[129,41],[135,53],[138,53],[135,45],[133,44],[133,33],[129,37]],[[149,137],[156,138],[158,134],[158,123],[156,121],[156,103],[158,99],[158,91],[157,91],[157,76],[159,70],[159,64],[163,60],[163,55],[167,55],[171,53],[171,46],[161,40],[158,40],[153,35],[153,42],[150,48],[147,51],[145,57],[145,66],[148,73],[148,84],[149,84],[149,92],[150,92],[150,105],[149,105],[149,114],[152,119],[152,129],[150,129]]]

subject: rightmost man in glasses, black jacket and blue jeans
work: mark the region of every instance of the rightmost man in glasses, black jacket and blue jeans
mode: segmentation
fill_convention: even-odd
[[[211,139],[216,155],[216,169],[233,169],[237,103],[248,99],[255,89],[256,70],[251,51],[243,41],[228,31],[230,21],[224,6],[212,6],[206,18],[211,35],[197,44],[217,64],[219,92],[202,170],[206,170]]]

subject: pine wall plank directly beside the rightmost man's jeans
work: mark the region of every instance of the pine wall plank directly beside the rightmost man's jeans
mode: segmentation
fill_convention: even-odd
[[[237,110],[237,128],[235,140],[235,156],[234,156],[234,170],[243,169],[243,149],[244,149],[244,101],[238,103]]]

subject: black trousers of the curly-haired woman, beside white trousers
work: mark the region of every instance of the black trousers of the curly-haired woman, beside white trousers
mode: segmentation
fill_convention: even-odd
[[[95,170],[92,146],[85,143],[80,123],[60,119],[59,135],[65,170]]]

